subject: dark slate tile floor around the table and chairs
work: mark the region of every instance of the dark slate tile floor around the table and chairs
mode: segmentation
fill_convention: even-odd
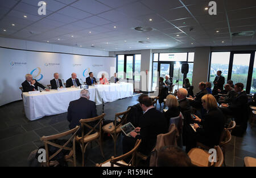
[[[105,103],[106,120],[114,120],[117,112],[122,112],[128,106],[137,104],[138,96]],[[160,109],[159,104],[157,108]],[[46,116],[39,120],[29,121],[22,113],[22,101],[16,101],[0,107],[0,166],[28,166],[27,158],[31,151],[42,146],[40,137],[67,131],[69,122],[67,113]],[[102,105],[97,106],[98,115]],[[232,141],[226,151],[226,166],[243,166],[245,156],[256,158],[256,128],[247,128],[243,137],[232,136]],[[85,152],[85,166],[95,166],[110,159],[114,154],[112,139],[103,142],[105,158],[102,158],[100,147],[96,142],[88,145]],[[122,136],[118,138],[117,155],[122,154]],[[81,166],[81,151],[77,146],[77,166]]]

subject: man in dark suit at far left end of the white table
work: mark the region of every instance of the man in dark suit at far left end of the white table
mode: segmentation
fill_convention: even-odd
[[[38,90],[38,87],[43,88],[45,91],[49,91],[43,84],[33,79],[31,74],[26,74],[26,80],[22,83],[23,92]]]

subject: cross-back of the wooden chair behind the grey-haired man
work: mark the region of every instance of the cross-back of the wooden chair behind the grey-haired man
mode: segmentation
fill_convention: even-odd
[[[98,132],[101,137],[101,130],[102,130],[101,128],[102,128],[104,116],[105,116],[105,113],[102,113],[102,115],[97,116],[97,117],[80,119],[81,130],[82,130],[82,137],[81,137],[82,140],[84,140],[84,137],[90,135],[93,131]],[[96,121],[98,121],[98,122],[94,127],[92,127],[88,124],[89,122],[96,122]],[[85,128],[90,129],[90,131],[86,134],[84,134]],[[84,143],[84,142],[82,142],[82,143]]]

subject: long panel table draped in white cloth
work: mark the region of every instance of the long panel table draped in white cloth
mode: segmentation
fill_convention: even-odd
[[[44,116],[57,115],[68,111],[70,101],[80,98],[79,87],[67,88],[64,91],[50,90],[38,94],[23,92],[24,111],[28,120],[36,120]],[[133,96],[132,83],[110,83],[89,86],[90,100],[96,105],[112,102]]]

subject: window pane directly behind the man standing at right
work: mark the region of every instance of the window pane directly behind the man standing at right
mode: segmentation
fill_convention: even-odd
[[[217,71],[222,71],[222,76],[225,77],[225,83],[228,79],[229,71],[229,58],[230,52],[212,52],[212,58],[210,60],[210,74],[209,82],[212,83],[212,88],[214,87],[213,81],[217,76]]]

